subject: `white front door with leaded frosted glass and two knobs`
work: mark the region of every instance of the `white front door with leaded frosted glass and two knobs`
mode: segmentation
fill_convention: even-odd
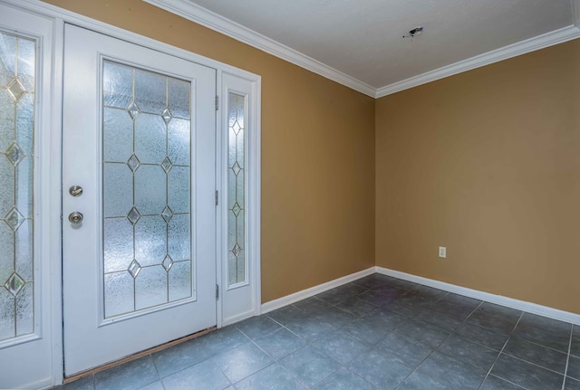
[[[216,325],[216,71],[67,25],[65,375]]]

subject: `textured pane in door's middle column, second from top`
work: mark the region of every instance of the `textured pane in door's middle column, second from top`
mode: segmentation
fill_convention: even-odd
[[[135,155],[142,164],[160,164],[167,155],[167,128],[160,115],[135,119]]]

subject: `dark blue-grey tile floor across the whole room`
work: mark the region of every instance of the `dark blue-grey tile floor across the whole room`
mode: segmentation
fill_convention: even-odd
[[[373,274],[58,388],[580,390],[580,327]]]

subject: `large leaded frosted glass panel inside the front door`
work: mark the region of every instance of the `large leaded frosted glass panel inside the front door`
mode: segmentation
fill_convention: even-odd
[[[102,80],[109,319],[193,296],[191,83],[111,61]]]

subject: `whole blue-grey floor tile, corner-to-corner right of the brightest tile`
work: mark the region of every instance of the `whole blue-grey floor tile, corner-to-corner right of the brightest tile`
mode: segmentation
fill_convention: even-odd
[[[280,360],[280,364],[308,387],[316,385],[340,368],[333,358],[312,346],[306,346],[285,357]]]

